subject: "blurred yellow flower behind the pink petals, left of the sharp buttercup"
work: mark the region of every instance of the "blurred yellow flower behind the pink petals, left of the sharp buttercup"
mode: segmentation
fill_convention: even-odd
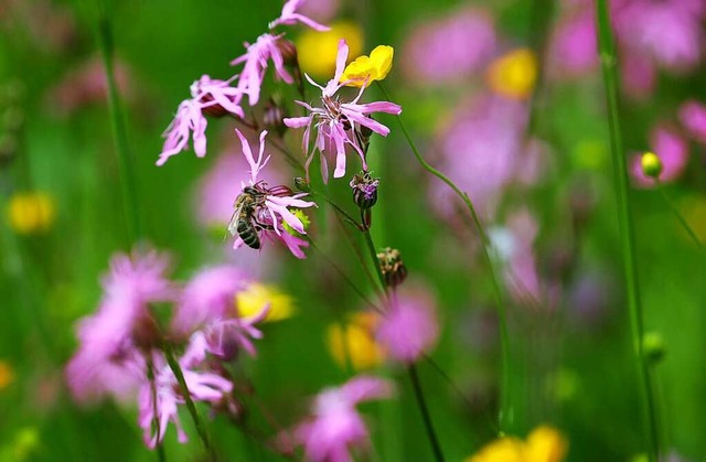
[[[327,32],[307,29],[296,40],[299,67],[314,77],[331,78],[341,39],[345,39],[349,45],[349,56],[363,53],[363,30],[354,22],[334,22]]]

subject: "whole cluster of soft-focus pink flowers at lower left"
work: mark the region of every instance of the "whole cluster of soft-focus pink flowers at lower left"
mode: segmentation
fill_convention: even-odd
[[[81,344],[66,367],[69,389],[79,402],[109,396],[137,399],[149,448],[163,439],[169,422],[176,427],[179,440],[186,441],[179,420],[185,390],[168,365],[164,348],[172,346],[165,346],[167,339],[185,344],[178,363],[191,400],[221,409],[235,399],[233,380],[214,365],[234,359],[240,351],[255,355],[253,340],[261,337],[255,325],[269,310],[265,304],[255,316],[239,316],[235,296],[248,280],[237,268],[205,269],[183,288],[168,278],[168,269],[169,257],[153,250],[115,256],[98,311],[81,322]],[[158,320],[170,308],[172,323],[162,326]]]

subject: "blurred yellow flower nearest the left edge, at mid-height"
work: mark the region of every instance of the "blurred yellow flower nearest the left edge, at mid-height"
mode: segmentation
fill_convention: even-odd
[[[8,204],[8,221],[18,234],[46,232],[54,224],[55,215],[54,200],[41,192],[13,194]]]

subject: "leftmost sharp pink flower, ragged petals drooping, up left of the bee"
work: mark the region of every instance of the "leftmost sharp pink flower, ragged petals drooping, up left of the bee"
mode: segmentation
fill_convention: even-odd
[[[204,114],[222,116],[229,112],[240,118],[244,116],[239,106],[243,93],[239,88],[229,86],[234,78],[235,76],[228,80],[216,80],[203,75],[191,85],[191,99],[179,105],[176,117],[162,135],[165,138],[164,147],[157,165],[163,165],[170,157],[188,149],[190,135],[196,155],[206,155],[207,121]]]

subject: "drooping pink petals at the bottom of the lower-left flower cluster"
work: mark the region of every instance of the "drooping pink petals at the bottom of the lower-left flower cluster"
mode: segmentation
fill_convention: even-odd
[[[233,383],[214,373],[194,370],[204,359],[201,355],[202,343],[202,337],[195,336],[179,359],[179,365],[191,399],[215,405],[233,390]],[[179,442],[184,443],[188,438],[179,419],[179,405],[185,404],[183,390],[163,356],[154,354],[152,362],[156,369],[154,383],[145,380],[138,397],[139,425],[143,430],[145,444],[154,449],[164,438],[170,421],[176,427]],[[154,420],[157,431],[152,429]]]

